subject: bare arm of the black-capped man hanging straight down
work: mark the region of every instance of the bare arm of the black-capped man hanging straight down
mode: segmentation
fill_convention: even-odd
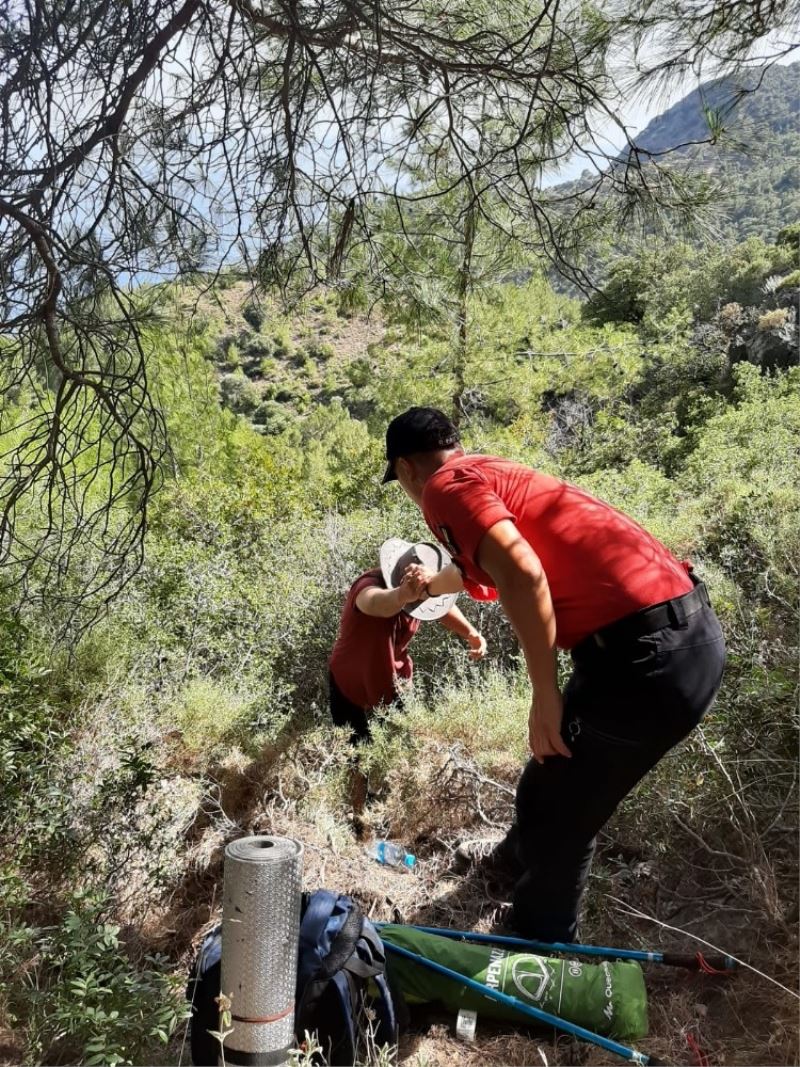
[[[484,534],[477,563],[492,578],[519,640],[533,685],[529,740],[541,763],[571,755],[561,739],[561,694],[556,660],[556,616],[539,556],[508,519]]]

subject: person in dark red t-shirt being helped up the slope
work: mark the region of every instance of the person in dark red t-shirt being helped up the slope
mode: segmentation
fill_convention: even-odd
[[[395,703],[411,686],[414,663],[409,644],[419,620],[403,610],[420,600],[421,584],[406,575],[387,589],[380,570],[366,571],[350,587],[341,611],[339,633],[330,668],[331,716],[337,726],[349,726],[350,739],[369,737],[369,720],[379,706]],[[485,638],[453,605],[437,620],[469,646],[469,658],[482,659]],[[351,781],[351,802],[356,819],[366,802],[367,779],[357,758]]]

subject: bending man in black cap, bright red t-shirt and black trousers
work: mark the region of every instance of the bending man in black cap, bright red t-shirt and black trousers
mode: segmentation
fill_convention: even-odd
[[[597,831],[717,694],[719,622],[688,564],[636,522],[557,478],[467,456],[436,409],[395,418],[386,458],[384,481],[400,482],[453,558],[407,575],[431,595],[499,598],[525,653],[533,759],[495,860],[518,875],[517,928],[573,940]],[[574,664],[563,694],[557,648]]]

